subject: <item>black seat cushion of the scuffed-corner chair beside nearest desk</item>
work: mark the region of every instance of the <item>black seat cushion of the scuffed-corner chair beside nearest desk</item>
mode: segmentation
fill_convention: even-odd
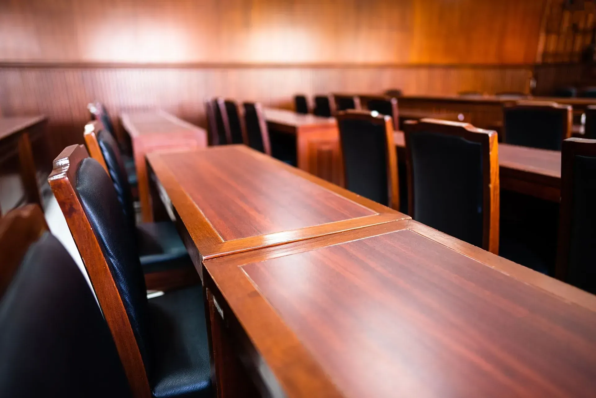
[[[197,305],[200,303],[200,305]],[[212,397],[207,326],[200,286],[149,300],[155,397]]]

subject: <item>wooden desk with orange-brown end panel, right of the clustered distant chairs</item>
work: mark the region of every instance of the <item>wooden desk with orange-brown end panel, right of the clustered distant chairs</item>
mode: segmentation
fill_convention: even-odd
[[[272,145],[278,139],[276,135],[295,136],[297,167],[326,181],[343,185],[337,144],[339,136],[334,117],[319,117],[273,108],[265,108],[264,113]]]

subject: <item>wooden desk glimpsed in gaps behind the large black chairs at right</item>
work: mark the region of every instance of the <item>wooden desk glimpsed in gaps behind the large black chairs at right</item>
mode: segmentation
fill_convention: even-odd
[[[393,134],[398,159],[405,158],[403,132]],[[501,189],[557,202],[561,199],[561,153],[499,143]]]

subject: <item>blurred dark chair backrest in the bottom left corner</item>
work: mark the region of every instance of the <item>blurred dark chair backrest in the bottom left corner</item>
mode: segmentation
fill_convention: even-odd
[[[0,396],[131,396],[91,289],[39,207],[0,221],[7,242],[16,272],[0,300]]]

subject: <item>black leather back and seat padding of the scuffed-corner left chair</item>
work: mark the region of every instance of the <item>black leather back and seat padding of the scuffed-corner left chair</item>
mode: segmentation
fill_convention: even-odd
[[[81,161],[76,192],[116,283],[154,397],[211,397],[210,362],[200,287],[147,300],[134,230],[122,217],[103,167]]]

